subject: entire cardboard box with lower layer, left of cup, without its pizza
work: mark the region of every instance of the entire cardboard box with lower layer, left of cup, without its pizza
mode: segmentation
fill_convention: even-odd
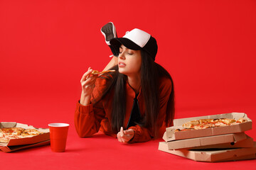
[[[36,135],[33,137],[12,139],[8,143],[0,143],[0,149],[3,152],[12,152],[18,149],[47,145],[50,143],[50,131],[48,128],[34,128],[31,125],[25,125],[25,124],[15,123],[15,122],[1,122],[0,128],[36,129],[40,132],[43,132],[43,134]]]

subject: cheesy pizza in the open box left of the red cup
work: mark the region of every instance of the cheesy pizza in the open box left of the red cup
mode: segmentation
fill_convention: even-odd
[[[0,143],[8,143],[10,140],[13,139],[33,137],[42,133],[43,132],[39,132],[36,129],[0,128]]]

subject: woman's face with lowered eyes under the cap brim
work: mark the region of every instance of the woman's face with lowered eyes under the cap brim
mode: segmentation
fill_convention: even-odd
[[[132,76],[139,74],[142,66],[142,54],[140,50],[130,50],[121,45],[119,47],[118,67],[122,74]]]

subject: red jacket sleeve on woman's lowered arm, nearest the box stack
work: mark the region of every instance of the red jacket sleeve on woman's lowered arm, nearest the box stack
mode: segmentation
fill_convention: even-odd
[[[160,89],[160,111],[159,115],[156,120],[156,128],[157,128],[157,134],[158,137],[163,137],[164,131],[166,130],[166,125],[164,123],[164,120],[166,118],[166,108],[167,103],[169,101],[169,96],[171,95],[171,80],[170,79],[163,79],[161,81]],[[146,142],[151,140],[151,138],[154,136],[152,134],[151,128],[143,128],[139,125],[131,126],[129,129],[132,129],[135,131],[135,135],[130,140],[130,143],[134,142]]]

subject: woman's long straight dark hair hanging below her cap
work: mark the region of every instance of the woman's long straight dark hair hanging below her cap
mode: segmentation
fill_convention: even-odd
[[[159,83],[162,77],[166,77],[171,80],[171,95],[166,108],[166,127],[170,126],[174,118],[174,82],[169,72],[161,67],[161,65],[154,62],[154,60],[148,55],[147,52],[142,50],[142,67],[141,67],[141,86],[142,96],[144,97],[145,103],[145,116],[139,125],[146,128],[150,128],[154,138],[158,137],[156,120],[160,109],[159,99]],[[118,66],[115,65],[111,69],[118,71]],[[102,79],[108,79],[107,86],[102,92],[102,96],[96,100],[100,101],[101,98],[110,96],[108,94],[113,93],[112,100],[112,114],[111,114],[111,125],[114,132],[119,132],[120,128],[124,126],[124,117],[126,113],[126,94],[125,84],[127,76],[119,72],[112,72],[111,77],[103,75]]]

